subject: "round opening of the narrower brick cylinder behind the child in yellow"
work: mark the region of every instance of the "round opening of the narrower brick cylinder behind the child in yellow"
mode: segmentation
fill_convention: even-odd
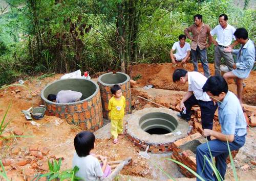
[[[121,84],[127,80],[127,76],[122,73],[106,73],[100,78],[100,81],[105,84]]]

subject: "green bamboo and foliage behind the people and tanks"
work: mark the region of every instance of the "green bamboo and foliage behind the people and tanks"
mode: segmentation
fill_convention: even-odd
[[[256,41],[256,11],[236,7],[232,0],[8,2],[9,12],[0,16],[0,85],[27,75],[119,69],[120,59],[169,62],[170,48],[194,23],[195,14],[202,14],[204,23],[214,28],[225,13],[229,24],[246,28]],[[123,11],[119,21],[118,5]],[[214,46],[207,56],[212,63]]]

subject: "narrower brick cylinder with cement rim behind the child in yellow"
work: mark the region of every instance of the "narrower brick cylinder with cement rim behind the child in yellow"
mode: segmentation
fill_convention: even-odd
[[[109,104],[110,98],[112,97],[112,93],[110,89],[115,84],[118,84],[121,86],[122,94],[125,97],[125,101],[126,101],[125,114],[131,113],[130,76],[122,72],[117,72],[115,74],[113,74],[113,72],[104,73],[99,76],[98,85],[99,85],[100,94],[101,94],[103,117],[105,119],[109,119],[108,104]]]

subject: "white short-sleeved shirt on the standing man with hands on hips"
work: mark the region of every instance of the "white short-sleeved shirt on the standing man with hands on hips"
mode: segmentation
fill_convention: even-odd
[[[234,37],[234,32],[236,28],[232,27],[230,24],[227,24],[227,27],[223,29],[221,25],[217,25],[214,29],[210,31],[211,36],[217,34],[216,41],[219,45],[229,46],[232,42],[232,39],[236,40]]]

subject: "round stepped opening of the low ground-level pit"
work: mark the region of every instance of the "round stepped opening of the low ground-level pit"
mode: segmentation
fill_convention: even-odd
[[[166,113],[148,113],[139,120],[140,128],[151,135],[163,135],[173,132],[178,126],[177,120]]]

